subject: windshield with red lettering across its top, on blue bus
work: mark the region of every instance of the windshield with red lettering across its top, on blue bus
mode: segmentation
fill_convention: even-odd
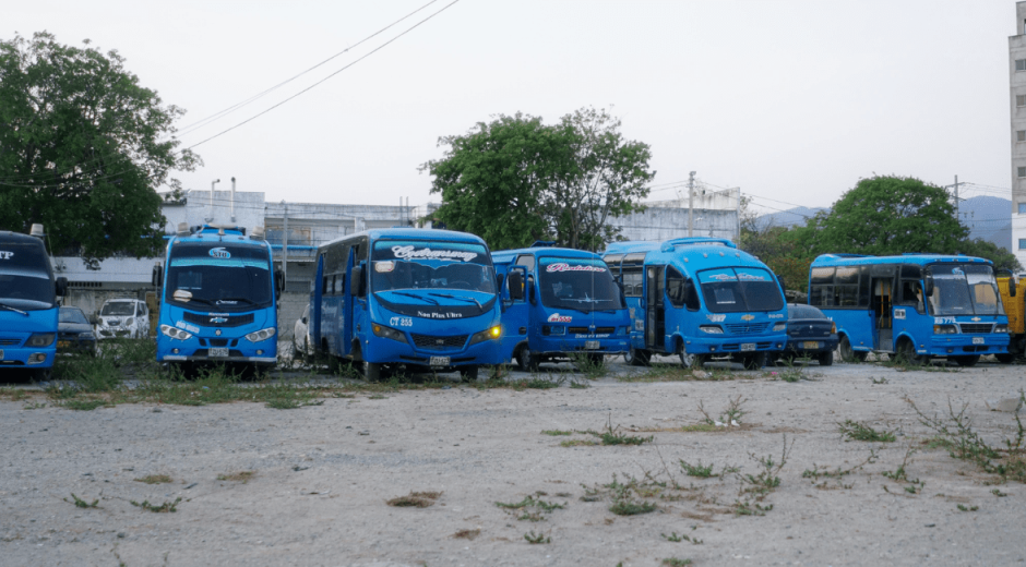
[[[623,309],[620,288],[599,258],[542,257],[538,264],[541,304],[590,313]]]

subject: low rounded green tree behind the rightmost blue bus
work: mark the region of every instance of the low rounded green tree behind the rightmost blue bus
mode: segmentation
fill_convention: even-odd
[[[968,236],[943,188],[915,178],[862,179],[795,234],[801,254],[951,254]]]

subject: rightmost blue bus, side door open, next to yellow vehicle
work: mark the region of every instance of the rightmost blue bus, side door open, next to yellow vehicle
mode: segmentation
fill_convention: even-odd
[[[823,254],[809,269],[809,304],[834,319],[846,361],[885,352],[971,366],[1009,349],[1009,317],[989,260]]]

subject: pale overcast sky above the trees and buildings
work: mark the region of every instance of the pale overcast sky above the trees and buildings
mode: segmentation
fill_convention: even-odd
[[[439,201],[418,166],[439,136],[517,111],[547,123],[606,108],[652,146],[649,198],[689,171],[766,208],[830,206],[895,173],[1009,198],[1013,0],[429,0],[7,2],[0,37],[48,31],[117,49],[141,84],[188,110],[183,146],[269,201]],[[381,48],[377,52],[372,50]],[[370,53],[368,56],[368,53]],[[358,62],[360,57],[368,56]],[[344,67],[353,67],[338,72]]]

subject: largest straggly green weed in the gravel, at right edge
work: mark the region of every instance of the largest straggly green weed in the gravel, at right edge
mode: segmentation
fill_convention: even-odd
[[[1019,398],[1026,401],[1026,395],[1021,390]],[[1004,448],[992,447],[983,441],[979,433],[973,430],[971,420],[966,415],[968,403],[955,412],[951,400],[947,401],[947,418],[932,418],[922,413],[911,399],[905,401],[912,407],[919,415],[919,422],[934,431],[940,439],[947,442],[949,455],[952,458],[975,463],[980,470],[998,475],[1002,482],[1013,480],[1026,483],[1026,430],[1017,413],[1015,420],[1016,432],[1011,439],[1004,439]]]

